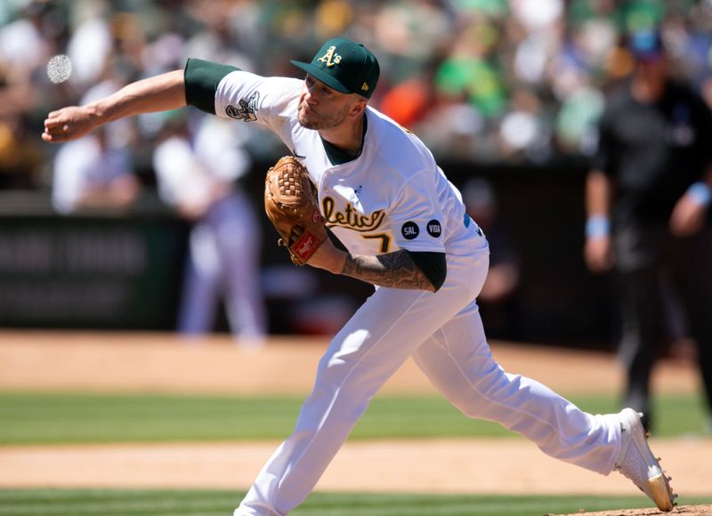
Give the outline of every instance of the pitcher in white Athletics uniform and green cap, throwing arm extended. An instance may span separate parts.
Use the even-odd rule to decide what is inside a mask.
[[[465,415],[501,423],[592,472],[618,470],[671,511],[672,489],[635,411],[587,414],[492,358],[475,301],[487,276],[487,238],[423,142],[368,106],[379,76],[374,54],[334,38],[311,62],[292,62],[303,79],[191,59],[184,70],[60,109],[44,123],[44,141],[66,141],[118,117],[189,104],[266,126],[294,157],[274,167],[265,188],[293,260],[376,286],[329,344],[295,431],[235,514],[278,516],[301,504],[369,400],[409,357]],[[301,199],[310,183],[316,194]],[[320,212],[313,222],[309,206]],[[303,239],[306,233],[312,237]]]

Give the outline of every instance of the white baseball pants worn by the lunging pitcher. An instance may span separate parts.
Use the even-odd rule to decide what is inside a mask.
[[[370,399],[413,356],[465,415],[501,423],[549,456],[608,474],[620,447],[614,415],[590,415],[492,358],[475,296],[487,274],[484,238],[448,256],[437,293],[378,288],[329,344],[294,433],[271,456],[235,516],[281,516],[301,504]],[[514,467],[514,466],[513,466]]]

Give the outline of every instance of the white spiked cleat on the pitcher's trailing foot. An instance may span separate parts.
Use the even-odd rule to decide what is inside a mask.
[[[669,512],[676,505],[677,495],[670,487],[671,478],[665,476],[659,459],[652,455],[648,447],[648,434],[643,429],[641,416],[632,408],[624,408],[619,413],[620,437],[623,440],[615,467],[655,502],[660,511]]]

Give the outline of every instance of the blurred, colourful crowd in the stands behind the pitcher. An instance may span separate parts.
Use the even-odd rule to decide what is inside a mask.
[[[372,104],[440,157],[538,163],[586,154],[608,85],[632,62],[626,37],[659,26],[677,73],[712,102],[709,0],[3,0],[0,2],[0,189],[51,185],[57,149],[47,112],[90,88],[181,68],[187,57],[298,77],[329,36],[350,36],[381,61]],[[69,80],[47,63],[66,54]],[[166,116],[115,134],[137,170]],[[251,129],[251,128],[250,128]],[[271,134],[235,129],[255,157],[283,153]],[[150,174],[149,174],[150,175]]]

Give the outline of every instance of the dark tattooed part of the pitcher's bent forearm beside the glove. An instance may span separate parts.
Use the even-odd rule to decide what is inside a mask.
[[[377,256],[348,254],[341,273],[378,286],[435,291],[430,279],[402,249]]]

